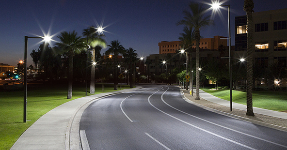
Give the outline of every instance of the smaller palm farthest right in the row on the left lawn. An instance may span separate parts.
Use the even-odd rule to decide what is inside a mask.
[[[133,48],[129,47],[129,49],[126,49],[126,52],[123,54],[124,58],[125,58],[125,62],[129,65],[129,68],[131,69],[131,72],[133,72],[133,75],[135,75],[135,62],[137,60],[137,56],[138,54],[136,53],[136,50],[134,50]],[[128,73],[129,75],[129,87],[133,88],[134,85],[134,77],[131,77],[131,72]]]

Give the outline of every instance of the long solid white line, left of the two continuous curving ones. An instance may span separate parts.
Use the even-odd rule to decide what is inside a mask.
[[[169,88],[168,88],[168,89],[169,89]],[[168,89],[167,89],[167,90],[168,90]],[[167,90],[165,90],[165,91],[162,93],[162,95],[163,95]],[[159,91],[159,90],[158,90],[158,91]],[[158,91],[156,91],[155,93],[157,93]],[[153,93],[153,94],[155,94],[155,93]],[[153,95],[153,94],[152,94],[152,95]],[[228,139],[228,138],[226,138],[226,137],[223,137],[223,136],[221,136],[221,135],[217,135],[217,134],[215,134],[215,133],[212,133],[212,132],[210,132],[210,131],[207,131],[207,130],[205,130],[205,129],[202,129],[202,128],[200,128],[200,127],[198,127],[198,126],[195,126],[195,125],[193,125],[193,124],[191,124],[191,123],[189,123],[189,122],[186,122],[186,121],[184,121],[184,120],[180,120],[180,119],[176,118],[175,116],[172,116],[172,115],[170,115],[170,114],[168,114],[168,113],[166,113],[166,112],[160,110],[158,107],[156,107],[156,106],[154,106],[154,105],[151,104],[151,102],[150,102],[150,97],[151,97],[152,95],[150,95],[150,96],[148,97],[148,99],[147,99],[147,100],[148,100],[148,103],[149,103],[151,106],[153,106],[154,108],[156,108],[157,110],[159,110],[160,112],[162,112],[162,113],[168,115],[169,117],[172,117],[172,118],[174,118],[175,120],[178,120],[178,121],[180,121],[180,122],[183,122],[183,123],[185,123],[185,124],[187,124],[187,125],[190,125],[190,126],[192,126],[192,127],[194,127],[194,128],[197,128],[197,129],[199,129],[199,130],[201,130],[201,131],[204,131],[204,132],[206,132],[206,133],[208,133],[208,134],[210,134],[210,135],[214,135],[214,136],[220,137],[220,138],[222,138],[222,139],[224,139],[224,140],[227,140],[227,141],[229,141],[229,142],[232,142],[232,143],[234,143],[234,144],[240,145],[240,146],[245,147],[245,148],[250,149],[250,150],[256,150],[256,149],[251,148],[251,147],[249,147],[249,146],[247,146],[247,145],[238,143],[238,142],[236,142],[236,141],[233,141],[233,140]]]

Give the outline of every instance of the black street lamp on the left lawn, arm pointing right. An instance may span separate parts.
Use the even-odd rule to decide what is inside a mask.
[[[45,42],[51,40],[48,36],[25,36],[25,48],[24,48],[24,112],[23,112],[23,122],[27,121],[27,49],[28,49],[28,39],[43,39]]]

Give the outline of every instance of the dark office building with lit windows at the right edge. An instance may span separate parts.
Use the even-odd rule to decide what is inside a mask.
[[[262,77],[257,79],[257,85],[273,87],[275,75],[272,67],[287,67],[287,9],[271,10],[253,13],[253,44],[255,64],[273,73],[275,79]],[[247,30],[246,16],[235,17],[235,52],[234,58],[246,58]],[[274,80],[274,81],[273,81]],[[280,79],[281,85],[286,86],[286,79]]]

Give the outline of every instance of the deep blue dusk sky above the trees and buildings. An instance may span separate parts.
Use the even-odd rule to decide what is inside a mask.
[[[182,11],[188,9],[190,1],[199,0],[1,0],[0,62],[16,65],[23,60],[24,36],[42,36],[42,30],[57,35],[76,30],[82,35],[83,29],[96,26],[96,22],[108,26],[107,44],[119,40],[126,49],[134,48],[140,57],[158,54],[159,42],[178,40],[183,26],[176,26],[176,22],[183,19]],[[235,16],[246,15],[243,3],[244,0],[224,2],[231,8],[231,45],[234,45]],[[287,0],[254,0],[254,3],[255,12],[287,8]],[[201,30],[201,36],[228,36],[227,11],[221,12],[223,17],[215,15],[215,25]],[[58,41],[56,36],[53,39]],[[28,40],[28,66],[32,64],[30,53],[38,49],[40,41]],[[102,49],[102,53],[106,50]]]

